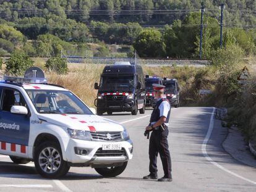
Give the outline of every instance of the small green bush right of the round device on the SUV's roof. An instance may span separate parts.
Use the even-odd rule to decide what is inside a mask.
[[[45,68],[58,74],[67,73],[67,59],[62,57],[51,57],[46,61]]]

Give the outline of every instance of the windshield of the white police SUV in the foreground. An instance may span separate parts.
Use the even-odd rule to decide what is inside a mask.
[[[27,93],[40,114],[93,115],[90,109],[70,91],[27,90]]]

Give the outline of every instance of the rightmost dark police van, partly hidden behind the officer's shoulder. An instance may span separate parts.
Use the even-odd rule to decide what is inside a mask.
[[[163,78],[164,94],[172,106],[179,107],[179,84],[175,78]]]

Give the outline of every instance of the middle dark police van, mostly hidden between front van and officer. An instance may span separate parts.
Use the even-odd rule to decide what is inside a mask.
[[[155,93],[152,86],[152,84],[154,83],[163,85],[160,77],[149,77],[148,75],[146,75],[146,107],[155,107],[156,105]]]

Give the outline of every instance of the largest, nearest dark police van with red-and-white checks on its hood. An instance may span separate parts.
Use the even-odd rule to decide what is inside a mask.
[[[101,74],[95,106],[97,114],[128,111],[132,115],[145,113],[145,81],[140,65],[116,62],[106,65]]]

